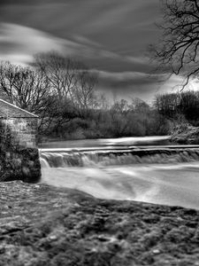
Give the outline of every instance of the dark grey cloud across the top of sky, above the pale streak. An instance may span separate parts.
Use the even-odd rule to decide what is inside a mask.
[[[4,6],[1,20],[67,39],[82,35],[125,55],[143,52],[157,36],[158,0],[26,0],[24,4],[17,0],[13,4]]]

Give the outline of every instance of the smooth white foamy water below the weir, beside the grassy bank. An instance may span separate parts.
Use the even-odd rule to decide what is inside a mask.
[[[42,182],[96,198],[137,200],[199,209],[198,165],[42,168]]]

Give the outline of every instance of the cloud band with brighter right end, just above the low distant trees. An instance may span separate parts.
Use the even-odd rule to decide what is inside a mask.
[[[94,72],[99,76],[98,90],[110,100],[138,97],[152,103],[157,94],[179,91],[185,82],[184,77],[171,74]],[[191,80],[185,90],[197,88],[198,81]]]

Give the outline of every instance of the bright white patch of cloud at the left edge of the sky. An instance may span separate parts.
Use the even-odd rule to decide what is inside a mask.
[[[0,59],[27,64],[34,53],[64,51],[64,43],[42,31],[16,24],[0,24]]]

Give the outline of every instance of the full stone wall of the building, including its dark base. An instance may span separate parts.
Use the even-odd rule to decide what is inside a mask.
[[[0,121],[0,182],[38,182],[41,164],[36,145],[36,119]]]

